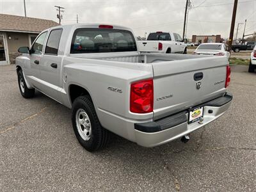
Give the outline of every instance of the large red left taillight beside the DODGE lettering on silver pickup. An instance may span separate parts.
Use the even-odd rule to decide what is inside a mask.
[[[132,113],[150,113],[153,111],[153,79],[137,81],[131,84],[130,111]]]

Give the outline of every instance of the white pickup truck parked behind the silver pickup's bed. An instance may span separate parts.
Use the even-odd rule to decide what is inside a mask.
[[[187,53],[187,45],[177,33],[150,33],[147,40],[138,41],[138,45],[141,52]]]

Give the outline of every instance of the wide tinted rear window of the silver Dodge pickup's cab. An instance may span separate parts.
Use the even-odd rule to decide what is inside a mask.
[[[137,51],[131,31],[81,28],[72,38],[70,53]]]

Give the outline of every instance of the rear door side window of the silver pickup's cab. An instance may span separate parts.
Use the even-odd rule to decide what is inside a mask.
[[[45,54],[58,54],[61,33],[62,29],[56,29],[51,31],[47,40]]]

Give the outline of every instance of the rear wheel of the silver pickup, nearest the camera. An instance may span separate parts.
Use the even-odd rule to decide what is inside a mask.
[[[77,97],[74,100],[72,125],[77,140],[86,150],[93,152],[107,145],[109,132],[100,125],[89,96]]]

